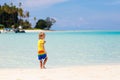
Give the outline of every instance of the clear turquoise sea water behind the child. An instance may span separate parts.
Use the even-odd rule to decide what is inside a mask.
[[[0,34],[0,68],[36,68],[38,33]],[[47,67],[120,64],[120,31],[46,32]]]

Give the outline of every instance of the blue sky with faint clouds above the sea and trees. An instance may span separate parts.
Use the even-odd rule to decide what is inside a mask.
[[[120,30],[120,0],[0,0],[11,2],[30,12],[33,27],[51,17],[56,20],[52,30]]]

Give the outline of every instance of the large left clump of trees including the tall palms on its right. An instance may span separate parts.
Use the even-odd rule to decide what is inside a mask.
[[[24,10],[21,8],[22,3],[19,3],[19,7],[16,7],[11,3],[10,5],[4,4],[0,5],[0,24],[5,25],[6,28],[11,28],[14,26],[25,26],[27,28],[31,27],[31,24],[23,18],[29,17],[29,12],[24,13]]]

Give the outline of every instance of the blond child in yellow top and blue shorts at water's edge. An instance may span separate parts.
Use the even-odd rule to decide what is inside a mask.
[[[44,32],[40,32],[39,33],[39,40],[38,40],[38,59],[40,60],[40,68],[41,69],[45,69],[45,64],[47,62],[47,54],[45,51],[45,33]]]

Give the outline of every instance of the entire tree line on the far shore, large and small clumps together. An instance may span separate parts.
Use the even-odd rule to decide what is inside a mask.
[[[22,9],[21,2],[18,7],[13,5],[13,3],[10,3],[9,5],[4,3],[4,5],[0,5],[0,24],[4,25],[4,28],[18,28],[19,26],[22,26],[23,29],[30,29],[32,27],[29,22],[29,16],[29,11],[24,11]],[[36,17],[34,17],[34,20],[36,20]],[[39,19],[34,28],[49,30],[55,22],[56,20],[50,17]]]

